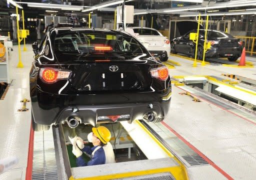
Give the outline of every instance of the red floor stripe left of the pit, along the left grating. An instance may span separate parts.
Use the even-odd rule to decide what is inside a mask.
[[[26,166],[26,180],[32,179],[33,147],[34,147],[34,131],[32,129],[32,124],[31,124],[29,144],[28,144],[27,166]]]

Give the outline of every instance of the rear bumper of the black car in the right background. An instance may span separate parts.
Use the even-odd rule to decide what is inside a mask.
[[[233,47],[233,48],[211,47],[205,53],[206,57],[229,57],[229,56],[240,57],[240,55],[241,55],[240,47]]]

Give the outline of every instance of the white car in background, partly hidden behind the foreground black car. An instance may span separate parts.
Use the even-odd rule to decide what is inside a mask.
[[[126,27],[126,32],[135,36],[145,48],[160,61],[167,61],[170,54],[170,41],[159,31],[148,27]]]

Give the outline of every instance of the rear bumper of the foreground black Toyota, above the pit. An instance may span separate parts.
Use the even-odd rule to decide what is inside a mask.
[[[137,98],[136,102],[137,96],[130,94],[129,96],[126,95],[125,98],[133,96],[135,98],[134,102],[130,102],[130,99],[130,101],[124,101],[123,103],[116,103],[115,101],[115,104],[90,105],[93,103],[86,97],[87,95],[52,95],[37,90],[37,98],[31,98],[31,105],[35,123],[45,125],[64,123],[70,116],[77,117],[80,123],[91,124],[92,126],[105,122],[132,122],[136,119],[142,119],[147,113],[153,113],[156,118],[155,121],[163,120],[169,109],[171,98],[168,95],[171,94],[171,87],[162,93],[136,94],[142,96],[144,100]],[[106,95],[105,98],[110,100],[111,97],[118,98],[118,95],[109,97]],[[152,106],[149,104],[152,104]],[[78,111],[73,112],[73,108],[77,108]],[[116,115],[123,116],[116,120],[107,117]]]

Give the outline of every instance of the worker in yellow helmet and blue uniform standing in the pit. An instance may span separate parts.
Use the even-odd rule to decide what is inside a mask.
[[[111,138],[110,131],[104,127],[92,128],[92,132],[88,134],[87,139],[92,143],[93,147],[84,146],[83,140],[77,137],[72,153],[76,157],[76,166],[93,166],[115,163],[112,145],[109,143]],[[82,159],[82,152],[90,155],[91,160],[88,163]]]

